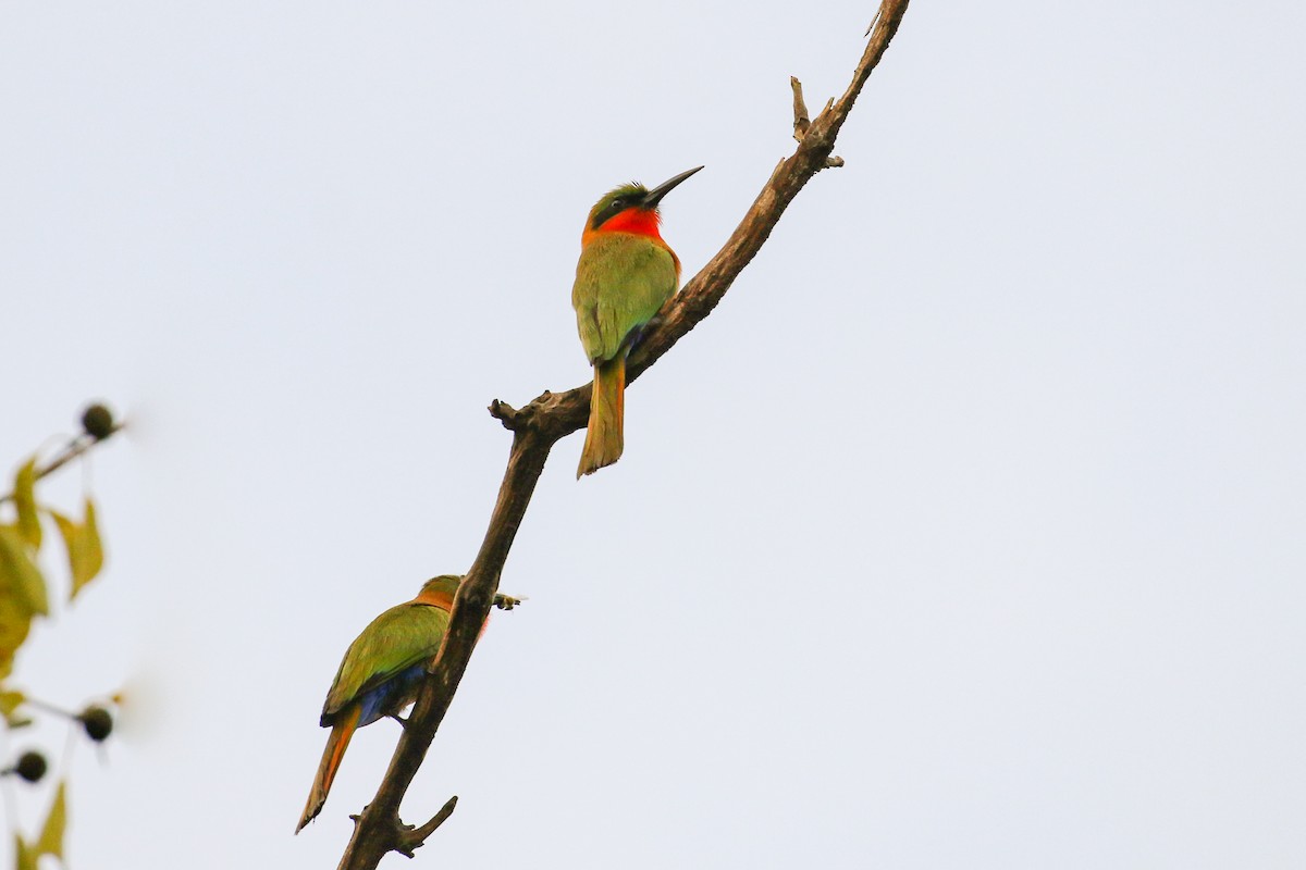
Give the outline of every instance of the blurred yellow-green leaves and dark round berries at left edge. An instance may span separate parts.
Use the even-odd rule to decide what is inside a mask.
[[[40,556],[51,548],[44,535],[42,517],[48,517],[59,531],[68,566],[68,603],[94,580],[104,566],[104,548],[95,519],[95,502],[82,497],[81,518],[59,511],[38,498],[37,484],[51,472],[74,459],[81,459],[97,443],[110,438],[120,424],[103,404],[93,404],[82,413],[82,432],[63,446],[46,463],[39,455],[29,457],[14,473],[13,490],[0,497],[0,717],[9,730],[33,723],[38,713],[55,713],[76,724],[89,740],[99,743],[114,730],[112,713],[98,703],[89,703],[78,713],[37,700],[12,685],[18,651],[27,640],[37,620],[51,617],[51,591],[42,569]],[[27,750],[0,775],[13,775],[26,783],[38,783],[47,771],[46,755]],[[14,865],[18,870],[37,870],[42,856],[64,861],[64,831],[68,826],[67,775],[55,788],[44,824],[35,840],[26,840],[14,831]],[[13,818],[13,814],[9,814]]]

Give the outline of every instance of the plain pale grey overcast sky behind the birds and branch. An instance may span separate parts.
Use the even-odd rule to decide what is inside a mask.
[[[323,698],[470,565],[486,404],[589,377],[586,210],[705,164],[663,206],[693,274],[872,14],[0,4],[0,460],[131,424],[108,570],[16,677],[127,686],[73,866],[336,865],[397,728],[294,837]],[[1303,31],[913,5],[622,462],[558,445],[404,807],[457,813],[384,866],[1306,865]]]

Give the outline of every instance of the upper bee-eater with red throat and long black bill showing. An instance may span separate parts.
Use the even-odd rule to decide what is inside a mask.
[[[622,185],[589,210],[572,286],[580,340],[594,367],[577,477],[622,457],[626,355],[680,286],[680,260],[658,233],[657,206],[671,188],[701,168],[682,172],[652,190],[643,184]]]

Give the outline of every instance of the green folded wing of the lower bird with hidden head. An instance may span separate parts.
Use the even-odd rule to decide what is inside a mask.
[[[409,601],[392,607],[349,644],[326,693],[323,716],[419,661],[435,657],[449,627],[449,612]]]

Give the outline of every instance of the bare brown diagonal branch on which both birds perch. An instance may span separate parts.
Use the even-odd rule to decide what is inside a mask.
[[[831,162],[835,137],[848,119],[857,95],[884,55],[906,12],[908,0],[883,0],[871,26],[870,40],[853,73],[848,90],[832,100],[807,125],[794,153],[780,162],[761,193],[721,250],[669,301],[627,363],[627,381],[633,381],[712,313],[734,279],[767,241],[785,209],[803,185]],[[804,112],[806,113],[806,112]],[[462,673],[471,657],[481,625],[499,588],[499,575],[508,558],[517,528],[530,503],[549,451],[563,437],[581,429],[589,416],[590,385],[567,393],[545,393],[517,410],[495,399],[490,413],[512,430],[508,468],[490,517],[481,552],[477,553],[449,620],[440,655],[422,685],[409,725],[400,737],[389,770],[376,797],[355,817],[354,836],[341,858],[340,870],[372,870],[387,852],[411,854],[427,826],[410,828],[400,820],[400,801],[417,775],[435,732],[449,708]],[[447,807],[452,811],[452,806]],[[441,819],[443,820],[443,819]],[[430,823],[428,823],[430,824]],[[434,827],[432,827],[434,830]],[[428,833],[430,831],[424,831]],[[424,835],[423,835],[424,836]]]

